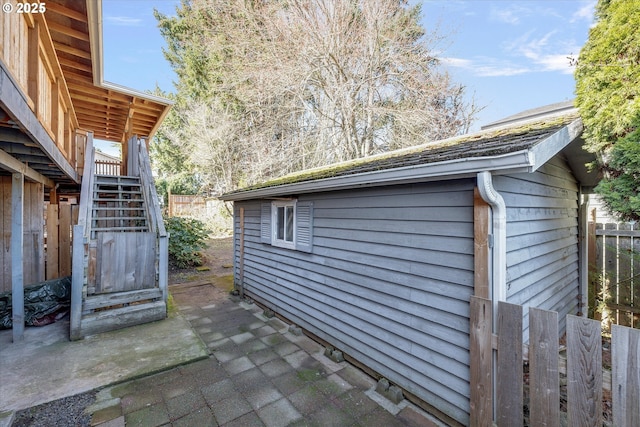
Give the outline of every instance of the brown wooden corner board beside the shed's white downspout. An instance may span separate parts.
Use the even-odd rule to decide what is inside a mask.
[[[474,295],[490,298],[489,294],[489,234],[490,211],[487,202],[482,200],[478,187],[473,190],[473,270]]]

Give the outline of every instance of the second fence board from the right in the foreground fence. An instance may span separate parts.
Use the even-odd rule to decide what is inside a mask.
[[[567,316],[567,412],[569,426],[602,426],[600,322]]]

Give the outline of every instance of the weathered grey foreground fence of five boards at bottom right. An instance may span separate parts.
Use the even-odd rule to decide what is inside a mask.
[[[608,386],[599,321],[567,316],[565,359],[560,355],[558,313],[530,308],[529,345],[525,346],[522,310],[522,306],[500,302],[494,335],[492,302],[471,297],[471,426],[525,424],[526,360],[529,425],[560,426],[561,397],[566,392],[566,412],[562,412],[567,425],[602,426],[603,387],[610,389],[613,403],[612,419],[607,421],[617,427],[640,425],[640,330],[613,325]],[[561,394],[563,371],[566,391],[563,388]]]

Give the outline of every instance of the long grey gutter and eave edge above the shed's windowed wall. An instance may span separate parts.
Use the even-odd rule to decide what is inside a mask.
[[[475,177],[476,174],[481,171],[491,171],[498,174],[531,172],[533,166],[533,157],[530,151],[521,150],[498,156],[462,158],[257,188],[255,190],[223,194],[219,199],[224,201],[242,201],[290,194],[349,190],[359,187],[471,178]]]

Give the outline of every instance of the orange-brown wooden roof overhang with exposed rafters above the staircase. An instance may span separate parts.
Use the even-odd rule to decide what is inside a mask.
[[[102,1],[48,0],[46,6],[78,127],[114,142],[153,136],[173,102],[104,81]],[[144,67],[136,72],[145,72]]]

